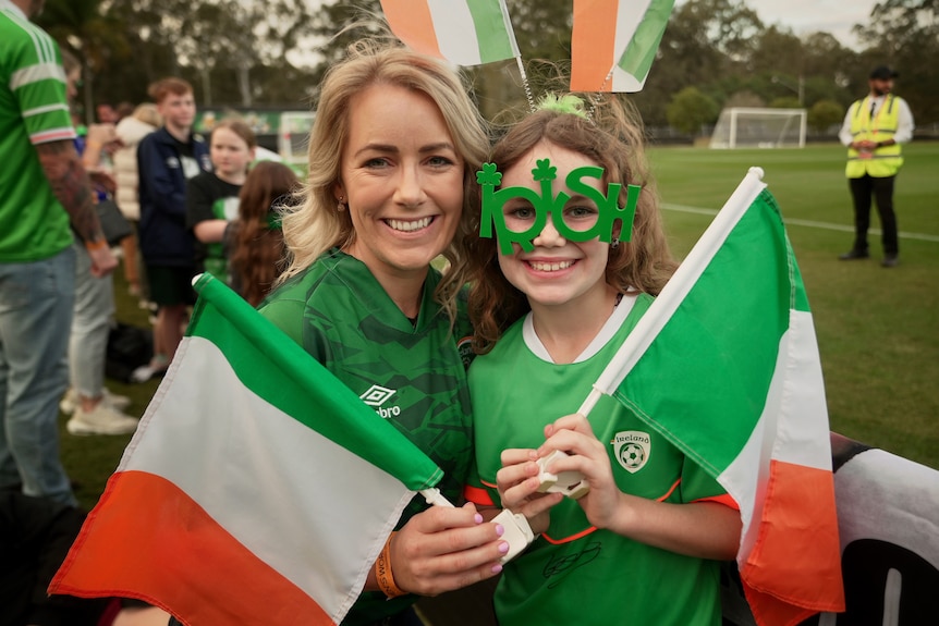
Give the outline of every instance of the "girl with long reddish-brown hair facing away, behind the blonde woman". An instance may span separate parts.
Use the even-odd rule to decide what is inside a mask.
[[[283,233],[273,205],[296,185],[293,170],[261,161],[241,189],[239,219],[225,233],[225,242],[232,289],[252,306],[260,304],[283,269]]]

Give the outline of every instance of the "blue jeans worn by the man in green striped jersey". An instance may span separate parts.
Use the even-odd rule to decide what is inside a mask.
[[[0,263],[0,488],[76,504],[59,458],[75,250]]]

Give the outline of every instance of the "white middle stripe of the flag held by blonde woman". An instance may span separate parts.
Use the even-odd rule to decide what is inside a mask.
[[[118,470],[175,483],[340,622],[413,492],[246,389],[205,339],[183,340],[163,382]],[[338,518],[336,502],[362,507]]]

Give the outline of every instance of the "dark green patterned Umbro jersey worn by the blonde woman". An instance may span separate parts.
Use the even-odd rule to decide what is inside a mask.
[[[272,292],[259,310],[375,408],[375,419],[390,420],[417,444],[443,470],[438,487],[455,504],[473,454],[471,327],[461,300],[451,329],[434,302],[439,281],[431,268],[412,322],[364,263],[333,249]],[[416,496],[399,527],[426,507]],[[415,600],[365,592],[343,624],[371,624]]]

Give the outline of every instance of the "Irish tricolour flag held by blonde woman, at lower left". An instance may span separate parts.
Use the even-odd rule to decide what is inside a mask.
[[[187,336],[49,588],[190,626],[338,624],[440,469],[208,274]]]

